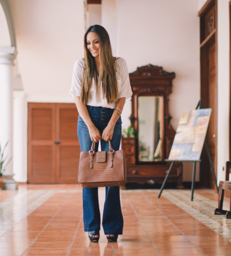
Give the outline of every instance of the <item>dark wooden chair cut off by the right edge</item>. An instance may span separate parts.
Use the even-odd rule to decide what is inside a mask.
[[[223,200],[225,190],[231,192],[231,181],[230,178],[230,170],[231,170],[231,161],[226,162],[226,180],[220,181],[219,183],[219,198],[218,198],[218,208],[215,210],[215,215],[226,215],[227,219],[231,219],[231,201],[230,201],[230,211],[223,210]]]

